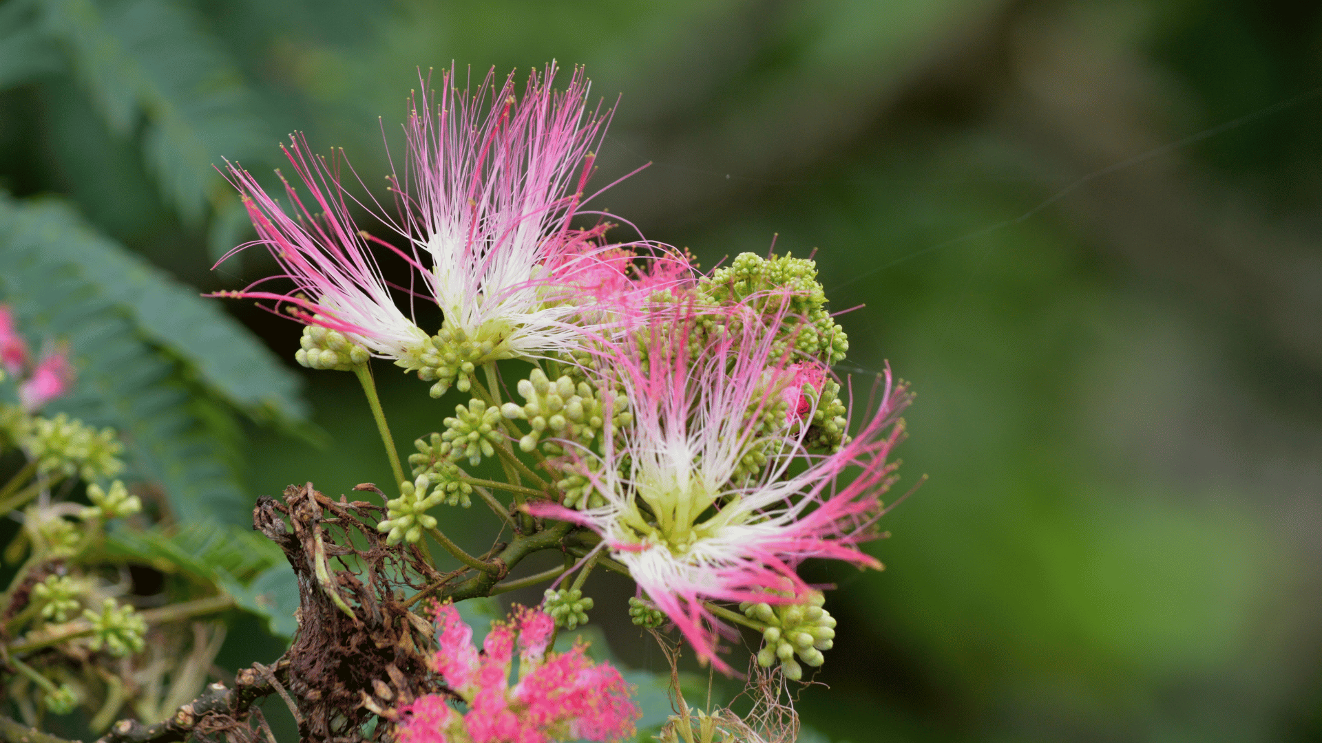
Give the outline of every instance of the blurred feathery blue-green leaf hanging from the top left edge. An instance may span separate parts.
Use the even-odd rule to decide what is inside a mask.
[[[147,119],[143,153],[165,198],[196,223],[229,186],[214,165],[274,136],[242,71],[202,19],[169,0],[41,0],[49,32],[114,131]]]

